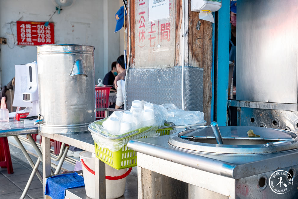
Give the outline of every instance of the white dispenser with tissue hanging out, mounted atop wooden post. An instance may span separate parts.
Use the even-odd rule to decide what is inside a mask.
[[[221,0],[191,0],[190,10],[200,12],[199,18],[214,23],[212,12],[221,8]]]

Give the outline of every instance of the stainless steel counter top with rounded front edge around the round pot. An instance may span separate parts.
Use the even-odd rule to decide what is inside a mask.
[[[259,156],[258,154],[241,155],[237,158],[235,158],[235,155],[197,155],[186,150],[182,151],[172,148],[168,144],[169,137],[170,135],[164,135],[155,138],[131,140],[128,142],[128,148],[138,153],[234,179],[298,164],[297,149],[278,154],[269,153],[265,156]],[[239,158],[243,158],[243,161],[239,162]]]

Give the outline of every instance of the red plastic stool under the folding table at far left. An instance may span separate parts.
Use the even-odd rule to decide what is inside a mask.
[[[1,168],[7,168],[8,174],[13,173],[7,138],[0,138],[0,166]]]

